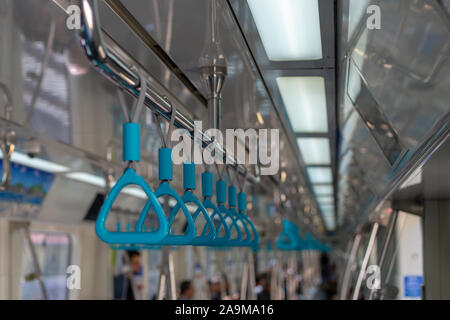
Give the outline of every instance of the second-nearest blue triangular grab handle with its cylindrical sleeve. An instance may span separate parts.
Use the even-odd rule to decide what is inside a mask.
[[[179,210],[184,214],[187,222],[187,228],[183,235],[169,234],[161,239],[160,245],[190,245],[196,234],[196,228],[194,220],[192,220],[189,210],[186,208],[183,200],[180,198],[178,193],[169,185],[168,180],[172,180],[172,149],[161,148],[159,149],[159,177],[162,179],[162,183],[155,191],[156,198],[161,197],[172,197],[176,200],[177,205],[170,211],[169,218],[167,219],[169,230],[172,228],[173,222]],[[163,161],[162,161],[163,160]],[[178,210],[175,210],[178,208]],[[138,222],[136,223],[136,230],[141,231],[144,225],[145,218],[147,217],[148,210],[144,208],[145,214],[139,216]]]

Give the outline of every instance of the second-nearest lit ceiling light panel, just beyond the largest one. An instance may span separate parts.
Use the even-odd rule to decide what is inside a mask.
[[[328,132],[323,77],[278,77],[277,85],[294,132]]]

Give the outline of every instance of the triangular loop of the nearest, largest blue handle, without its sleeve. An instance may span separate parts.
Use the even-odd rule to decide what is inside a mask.
[[[148,201],[141,212],[141,216],[145,214],[147,212],[146,210],[150,207],[155,209],[159,221],[159,227],[155,232],[113,232],[106,229],[106,219],[108,218],[111,207],[120,191],[128,185],[141,187],[147,195]],[[168,224],[164,211],[148,184],[142,177],[137,175],[132,168],[128,168],[106,197],[98,214],[97,221],[95,222],[95,231],[102,241],[109,244],[157,244],[166,236]]]

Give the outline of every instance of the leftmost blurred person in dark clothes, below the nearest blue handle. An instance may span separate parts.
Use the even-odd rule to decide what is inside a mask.
[[[114,277],[114,299],[142,299],[142,265],[139,251],[127,251],[121,274]]]

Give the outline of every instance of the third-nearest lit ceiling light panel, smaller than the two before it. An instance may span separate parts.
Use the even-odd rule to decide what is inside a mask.
[[[297,144],[306,165],[331,164],[328,138],[298,138]]]

